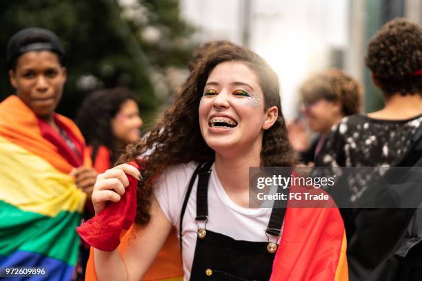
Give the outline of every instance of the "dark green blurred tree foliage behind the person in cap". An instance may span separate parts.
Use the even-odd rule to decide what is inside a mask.
[[[167,97],[160,77],[168,67],[185,67],[194,48],[189,39],[194,30],[181,19],[177,0],[1,1],[0,18],[3,58],[8,39],[22,28],[38,26],[59,35],[68,82],[57,111],[70,117],[94,88],[122,86],[137,93],[148,118]],[[1,101],[13,89],[6,59],[0,67]]]

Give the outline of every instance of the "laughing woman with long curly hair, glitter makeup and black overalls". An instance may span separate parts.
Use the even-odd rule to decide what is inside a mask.
[[[125,163],[139,156],[137,187],[139,171]],[[209,52],[120,163],[97,179],[97,215],[79,228],[94,228],[90,278],[141,280],[174,226],[184,280],[347,280],[338,209],[249,208],[250,167],[295,163],[277,74],[254,52],[234,45]],[[118,248],[119,240],[98,243],[103,230],[113,231],[101,224],[109,219],[103,212],[135,194],[136,216],[131,204],[122,208],[135,216],[132,231]]]

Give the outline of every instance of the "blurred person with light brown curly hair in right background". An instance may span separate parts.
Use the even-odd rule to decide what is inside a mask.
[[[344,116],[359,112],[362,87],[348,74],[332,69],[312,76],[303,83],[299,92],[301,114],[318,136],[310,141],[305,123],[294,120],[288,123],[289,139],[299,152],[299,160],[305,165],[313,165],[332,126]]]

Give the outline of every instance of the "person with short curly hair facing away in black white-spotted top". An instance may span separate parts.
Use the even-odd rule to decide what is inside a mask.
[[[422,122],[421,25],[407,19],[383,25],[370,40],[365,63],[385,105],[376,112],[343,118],[317,157],[317,166],[376,170],[421,160],[412,150]],[[347,187],[348,200],[363,202],[370,183],[368,175],[356,172]],[[422,280],[420,211],[343,209],[342,215],[350,280]]]

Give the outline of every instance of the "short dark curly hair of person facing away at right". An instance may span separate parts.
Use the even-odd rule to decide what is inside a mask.
[[[386,96],[422,94],[422,27],[394,19],[370,40],[365,63]]]

